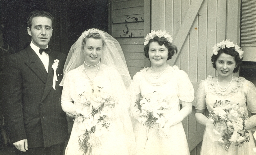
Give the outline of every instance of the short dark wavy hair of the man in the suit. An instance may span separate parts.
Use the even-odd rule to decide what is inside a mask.
[[[49,12],[47,11],[38,11],[38,10],[35,10],[35,11],[32,11],[29,13],[29,16],[28,16],[28,19],[27,19],[27,25],[29,27],[29,29],[31,29],[31,26],[32,26],[32,19],[34,17],[47,17],[49,18],[50,20],[52,20],[52,29],[54,27],[54,18],[52,16],[52,14],[50,14]]]

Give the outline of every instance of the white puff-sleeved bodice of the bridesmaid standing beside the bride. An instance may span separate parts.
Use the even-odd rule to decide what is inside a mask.
[[[175,111],[179,110],[179,100],[194,100],[194,89],[188,75],[177,66],[168,66],[158,79],[151,76],[150,68],[144,68],[134,75],[132,81],[136,94],[150,98],[154,92],[158,100],[168,103]]]

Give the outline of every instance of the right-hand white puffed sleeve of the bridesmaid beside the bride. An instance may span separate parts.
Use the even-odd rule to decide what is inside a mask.
[[[194,88],[188,75],[183,70],[178,70],[178,96],[179,99],[185,102],[194,100]]]

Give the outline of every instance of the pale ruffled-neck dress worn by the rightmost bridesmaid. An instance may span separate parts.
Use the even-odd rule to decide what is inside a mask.
[[[195,108],[202,110],[207,108],[209,111],[213,110],[213,105],[216,100],[229,100],[231,103],[236,103],[244,107],[245,114],[248,115],[247,110],[251,113],[256,113],[256,89],[253,83],[245,80],[243,77],[235,78],[227,91],[220,91],[217,82],[213,81],[212,76],[208,76],[205,80],[200,82],[196,93]],[[206,126],[207,129],[208,126]],[[253,148],[255,147],[253,135],[249,131],[250,140],[245,142],[241,147],[231,144],[228,151],[226,151],[218,141],[212,140],[210,135],[214,135],[211,130],[204,131],[203,143],[201,147],[201,155],[254,155]],[[210,133],[209,133],[210,132]],[[210,134],[210,135],[209,135]]]

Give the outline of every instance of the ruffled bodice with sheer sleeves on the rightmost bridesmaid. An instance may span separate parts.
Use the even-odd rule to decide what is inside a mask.
[[[208,76],[200,82],[196,95],[196,109],[212,110],[216,100],[229,100],[247,106],[251,113],[256,113],[256,89],[253,83],[243,77],[235,78],[227,91],[220,91],[217,82]],[[246,104],[247,103],[247,104]]]

